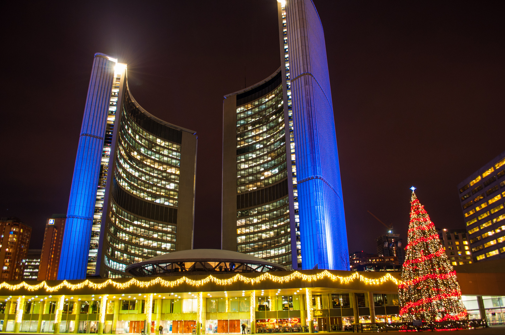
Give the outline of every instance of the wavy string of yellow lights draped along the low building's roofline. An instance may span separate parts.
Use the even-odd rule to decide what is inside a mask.
[[[245,284],[253,284],[253,285],[259,284],[259,283],[266,281],[266,280],[271,280],[275,283],[287,283],[287,282],[290,282],[290,281],[297,279],[297,278],[301,278],[301,280],[306,281],[306,282],[313,282],[313,281],[321,280],[325,277],[330,278],[332,281],[338,280],[338,281],[340,281],[340,283],[343,283],[343,284],[348,284],[348,283],[355,281],[357,279],[359,279],[361,282],[364,282],[365,284],[369,284],[369,285],[381,285],[387,281],[391,281],[395,285],[398,285],[398,283],[399,283],[398,280],[396,280],[396,278],[394,278],[390,273],[387,273],[386,275],[384,275],[380,278],[377,278],[377,279],[370,279],[370,278],[367,278],[367,277],[359,274],[357,271],[352,273],[349,276],[342,277],[339,275],[334,275],[334,274],[330,273],[330,271],[328,271],[328,270],[324,270],[323,272],[320,272],[317,274],[304,274],[304,273],[300,273],[299,271],[294,271],[293,273],[291,273],[289,275],[285,275],[285,276],[276,276],[276,275],[271,274],[270,272],[265,272],[255,278],[248,278],[248,277],[245,277],[245,276],[237,273],[236,275],[234,275],[233,277],[228,278],[228,279],[219,279],[211,274],[208,277],[198,280],[198,281],[189,279],[188,277],[184,276],[184,277],[181,277],[175,281],[166,281],[162,277],[156,277],[152,281],[149,281],[149,282],[142,282],[142,281],[139,281],[135,278],[132,278],[131,280],[129,280],[126,283],[117,283],[111,279],[105,281],[104,283],[92,283],[89,280],[85,280],[79,284],[70,284],[67,281],[63,281],[62,283],[58,284],[57,286],[48,286],[45,281],[42,283],[39,283],[37,285],[29,285],[26,282],[22,282],[22,283],[16,284],[16,285],[11,285],[6,282],[3,282],[3,283],[0,283],[0,289],[19,290],[21,288],[24,288],[28,291],[35,291],[35,290],[39,290],[39,289],[44,288],[48,292],[55,292],[55,291],[60,290],[61,288],[68,288],[70,290],[76,290],[76,289],[82,289],[86,286],[91,289],[99,290],[99,289],[103,289],[109,285],[112,285],[115,288],[125,289],[125,288],[128,288],[133,285],[135,285],[139,288],[147,288],[151,285],[157,285],[157,284],[164,286],[164,287],[172,287],[173,288],[173,287],[179,286],[181,284],[187,284],[187,285],[191,285],[191,286],[201,286],[201,285],[205,285],[208,283],[214,283],[217,285],[231,285],[231,284],[236,283],[238,281],[241,281]]]

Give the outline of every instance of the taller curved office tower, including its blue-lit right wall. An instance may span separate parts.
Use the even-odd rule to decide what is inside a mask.
[[[224,100],[222,248],[348,270],[323,27],[311,0],[278,13],[282,66]]]

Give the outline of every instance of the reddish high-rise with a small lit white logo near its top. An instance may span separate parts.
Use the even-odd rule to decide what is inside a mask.
[[[53,214],[46,221],[42,252],[39,255],[41,258],[38,271],[39,281],[58,279],[66,217],[65,214]]]

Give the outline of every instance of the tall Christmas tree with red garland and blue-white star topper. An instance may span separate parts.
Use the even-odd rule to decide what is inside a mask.
[[[424,206],[414,193],[405,262],[398,285],[400,316],[404,321],[427,322],[462,320],[467,310],[461,302],[461,290],[438,233]]]

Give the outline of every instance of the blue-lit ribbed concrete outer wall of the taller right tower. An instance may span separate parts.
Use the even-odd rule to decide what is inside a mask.
[[[324,32],[311,0],[286,4],[302,268],[348,270]]]

